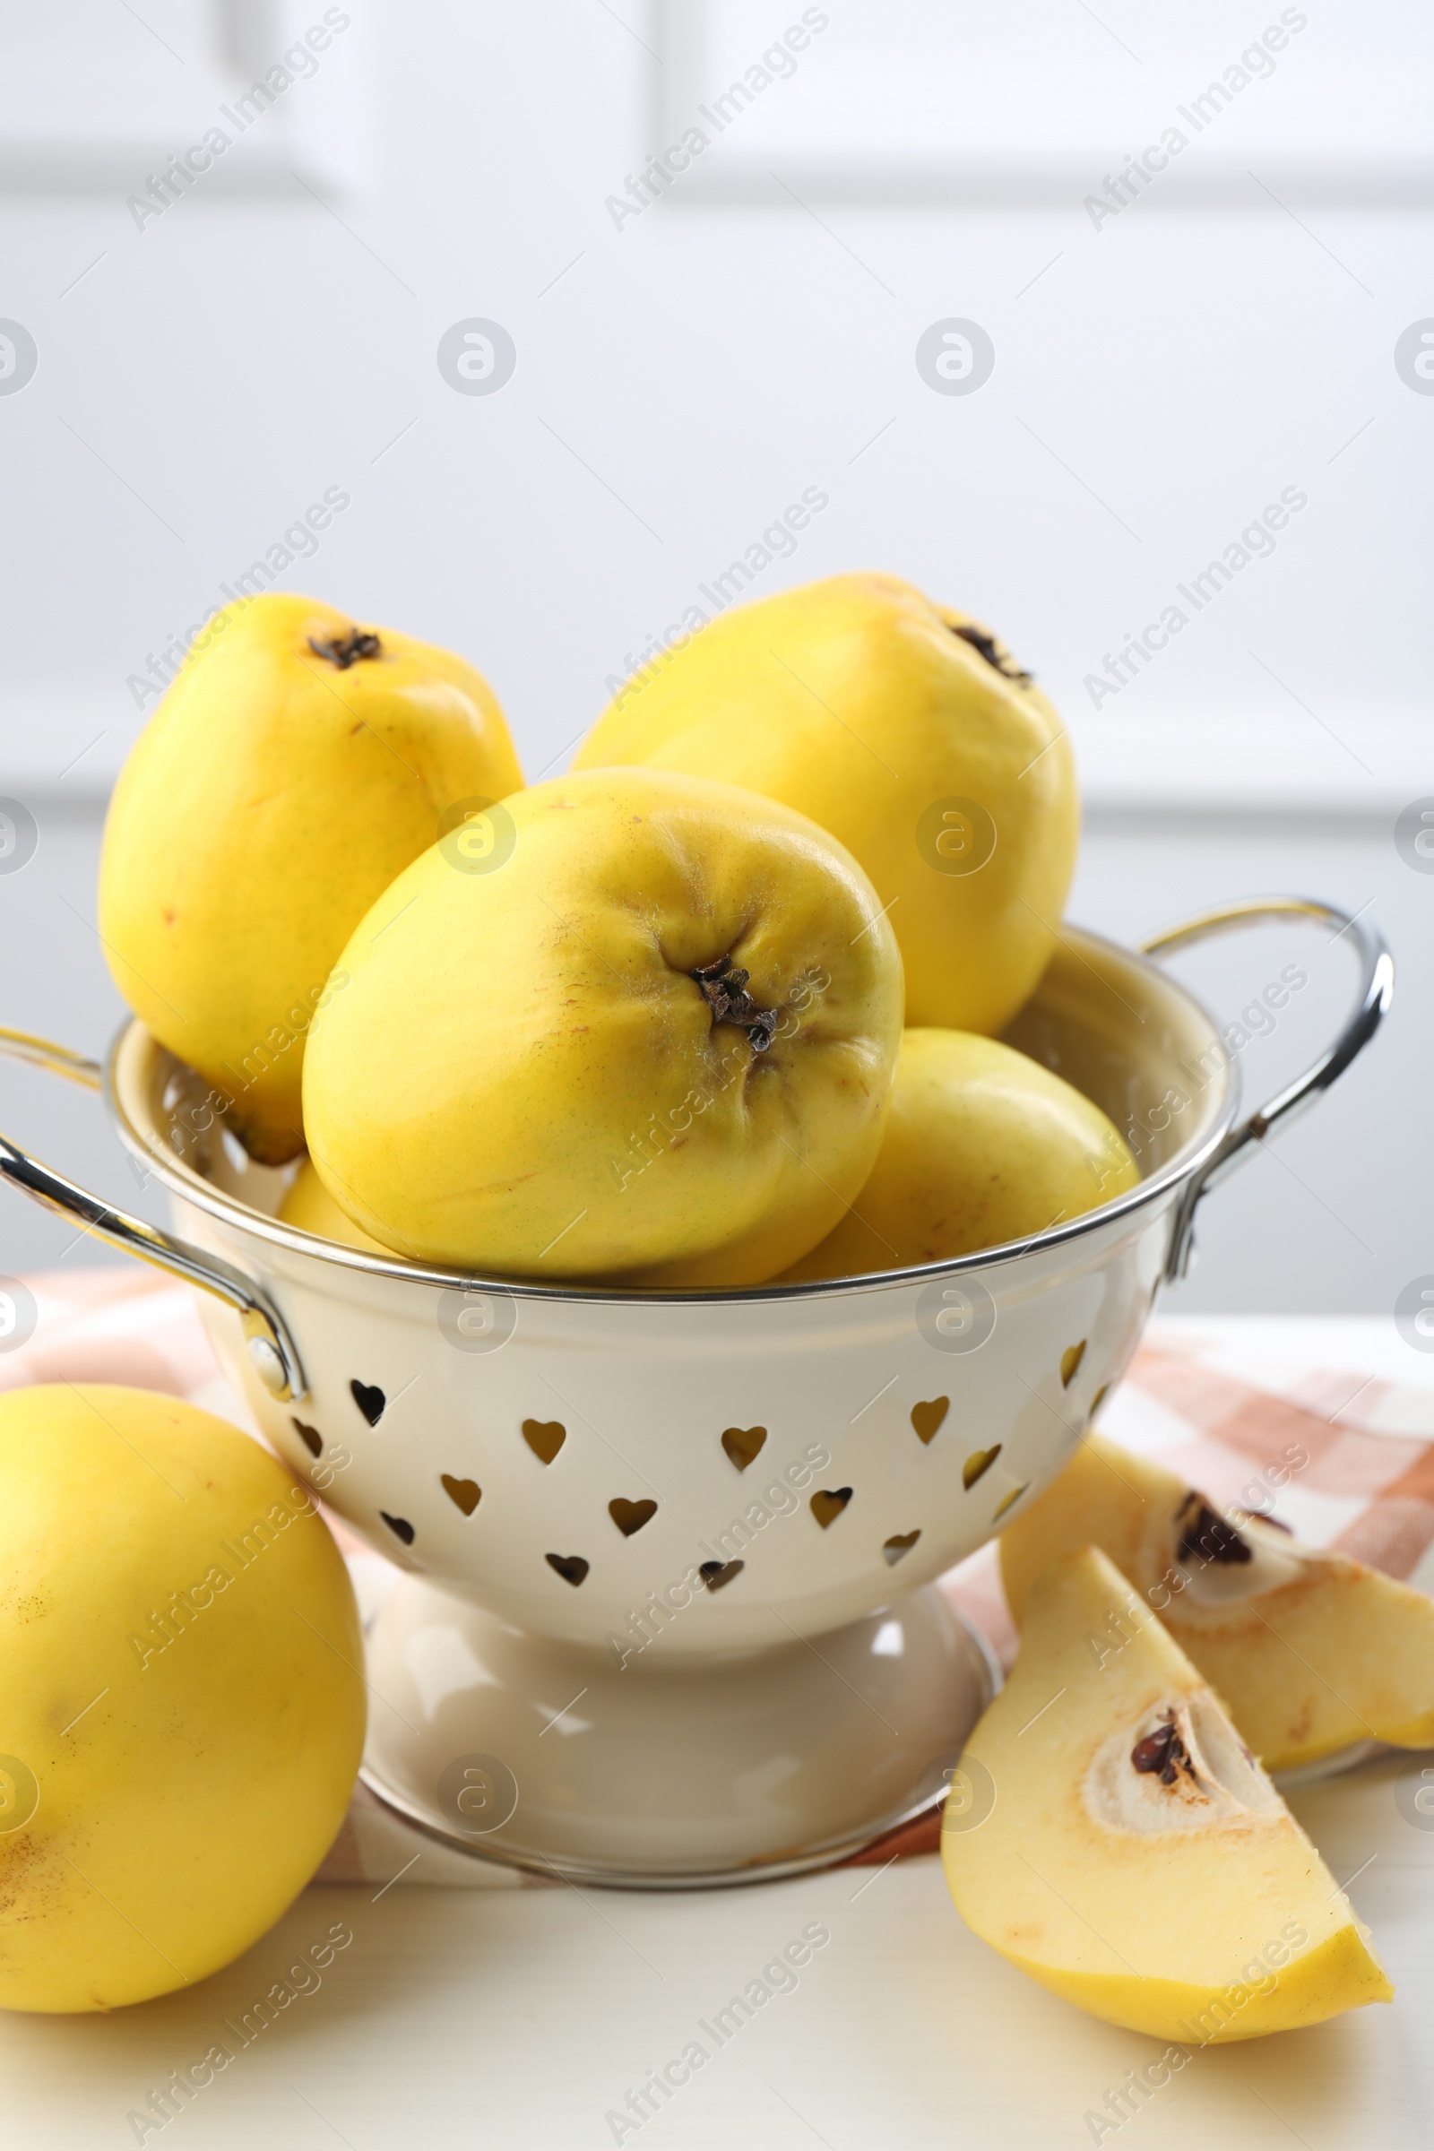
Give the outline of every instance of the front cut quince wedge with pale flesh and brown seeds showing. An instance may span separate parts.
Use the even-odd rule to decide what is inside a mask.
[[[985,1942],[1157,2039],[1253,2039],[1393,1994],[1219,1697],[1096,1547],[1032,1592],[942,1858]]]

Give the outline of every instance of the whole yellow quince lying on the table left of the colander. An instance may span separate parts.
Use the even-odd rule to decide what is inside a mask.
[[[256,1441],[144,1390],[0,1398],[0,2007],[118,2009],[258,1940],[344,1818],[361,1663]]]

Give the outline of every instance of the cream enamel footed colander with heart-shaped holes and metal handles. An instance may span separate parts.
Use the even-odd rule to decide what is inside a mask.
[[[1359,959],[1335,1043],[1262,1112],[1157,955],[1314,923]],[[1378,934],[1301,897],[1129,953],[1064,927],[1006,1039],[1127,1134],[1142,1183],[1023,1245],[722,1293],[471,1278],[314,1239],[142,1024],[105,1091],[174,1230],[0,1138],[0,1172],[200,1288],[299,1478],[404,1575],[370,1626],[385,1800],[475,1854],[626,1884],[789,1874],[940,1798],[989,1699],[931,1587],[1036,1495],[1124,1372],[1195,1207],[1374,1035]]]

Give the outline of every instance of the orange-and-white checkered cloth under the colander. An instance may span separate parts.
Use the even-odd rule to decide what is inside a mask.
[[[118,1381],[185,1396],[258,1433],[215,1364],[187,1286],[133,1267],[49,1271],[26,1284],[39,1321],[28,1344],[0,1355],[0,1390]],[[1273,1504],[1311,1544],[1339,1547],[1434,1590],[1434,1357],[1410,1351],[1389,1321],[1159,1319],[1107,1400],[1101,1430],[1159,1456],[1217,1504]],[[374,1605],[393,1570],[338,1519],[329,1523],[359,1598]],[[995,1547],[952,1568],[942,1590],[1008,1665],[1015,1628]],[[940,1813],[931,1811],[860,1858],[933,1852],[937,1835]],[[557,1886],[447,1850],[357,1785],[318,1880],[400,1878],[469,1889]]]

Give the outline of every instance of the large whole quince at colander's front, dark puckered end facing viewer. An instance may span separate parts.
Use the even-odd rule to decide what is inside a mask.
[[[598,770],[434,845],[342,955],[303,1119],[402,1254],[520,1276],[755,1284],[881,1142],[901,957],[813,822]]]

